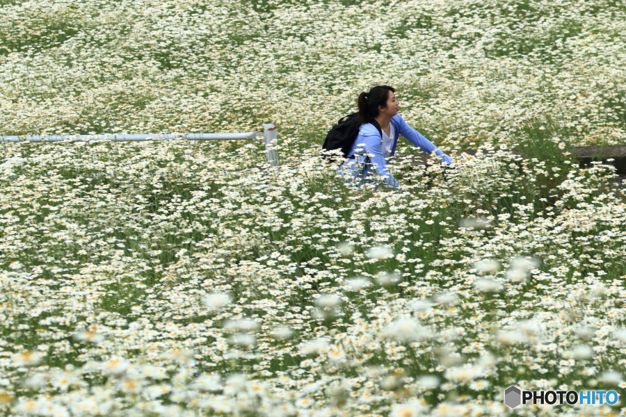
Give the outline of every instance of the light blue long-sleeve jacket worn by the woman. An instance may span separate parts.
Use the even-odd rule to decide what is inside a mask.
[[[428,154],[437,149],[435,154],[441,158],[442,162],[447,163],[447,165],[452,163],[452,158],[444,154],[430,140],[424,138],[418,131],[409,126],[401,115],[396,114],[392,117],[391,122],[394,124],[394,142],[390,156],[394,156],[396,153],[398,136],[402,135],[413,145]],[[360,126],[359,134],[350,152],[348,152],[348,158],[352,155],[355,156],[354,159],[348,159],[348,161],[339,165],[339,172],[342,174],[350,172],[354,181],[358,181],[360,178],[360,181],[357,183],[358,186],[362,186],[367,181],[367,177],[371,177],[373,174],[378,175],[378,177],[383,178],[383,181],[388,186],[399,190],[400,184],[389,172],[387,161],[383,157],[383,138],[374,124],[365,123]]]

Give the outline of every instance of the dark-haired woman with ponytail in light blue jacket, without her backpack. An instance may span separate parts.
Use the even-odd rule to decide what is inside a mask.
[[[362,186],[368,177],[378,175],[387,185],[399,190],[400,184],[387,167],[387,158],[396,153],[399,135],[428,154],[436,150],[435,154],[440,156],[444,163],[448,165],[452,163],[452,158],[437,149],[430,140],[415,131],[398,114],[400,104],[394,92],[396,90],[389,85],[376,85],[369,92],[362,92],[359,95],[357,118],[359,134],[348,152],[348,161],[339,165],[342,173],[352,174],[355,180],[360,178],[358,186]],[[382,136],[375,126],[376,123],[380,126]]]

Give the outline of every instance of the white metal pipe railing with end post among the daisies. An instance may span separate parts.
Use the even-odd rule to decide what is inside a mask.
[[[262,133],[262,134],[259,134]],[[1,136],[0,142],[78,142],[90,140],[112,140],[113,142],[141,142],[154,139],[186,139],[186,140],[258,140],[265,142],[267,161],[271,167],[278,167],[278,152],[275,139],[278,137],[276,126],[269,123],[263,126],[263,131],[247,133],[188,133],[180,134],[147,134],[147,135],[26,135],[26,136]]]

